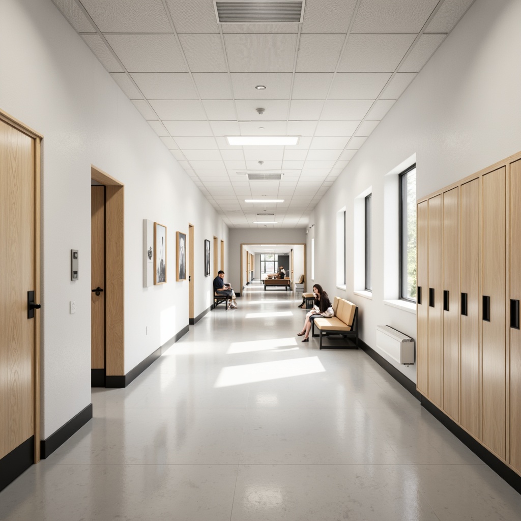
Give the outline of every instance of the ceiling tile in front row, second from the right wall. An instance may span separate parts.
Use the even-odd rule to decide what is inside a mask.
[[[354,33],[418,33],[438,0],[364,0],[356,13]]]

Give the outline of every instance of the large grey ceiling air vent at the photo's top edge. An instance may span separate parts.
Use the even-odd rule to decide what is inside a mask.
[[[218,23],[302,23],[304,1],[215,0],[214,5]]]

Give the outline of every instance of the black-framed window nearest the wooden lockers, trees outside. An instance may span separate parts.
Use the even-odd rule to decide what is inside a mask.
[[[416,165],[400,174],[400,299],[416,302]]]

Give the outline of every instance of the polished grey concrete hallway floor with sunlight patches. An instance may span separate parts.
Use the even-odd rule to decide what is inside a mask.
[[[0,492],[0,519],[519,520],[521,495],[363,351],[251,284]]]

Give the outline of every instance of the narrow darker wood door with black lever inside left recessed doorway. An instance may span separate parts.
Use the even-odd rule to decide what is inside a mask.
[[[91,369],[105,368],[105,187],[91,187]]]

